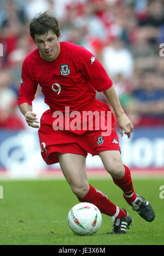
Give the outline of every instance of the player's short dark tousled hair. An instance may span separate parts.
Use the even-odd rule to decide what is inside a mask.
[[[34,40],[35,34],[48,34],[51,31],[56,34],[57,37],[60,36],[60,27],[58,25],[58,20],[51,16],[48,11],[44,13],[37,14],[30,22],[30,34]]]

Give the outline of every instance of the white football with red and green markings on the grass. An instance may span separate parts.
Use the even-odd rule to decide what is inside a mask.
[[[69,228],[79,236],[96,233],[101,223],[101,212],[92,203],[78,203],[68,213]]]

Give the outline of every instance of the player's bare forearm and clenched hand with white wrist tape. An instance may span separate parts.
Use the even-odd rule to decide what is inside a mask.
[[[19,106],[21,113],[24,115],[28,126],[39,128],[39,121],[36,114],[32,112],[32,106],[28,103],[22,103]]]

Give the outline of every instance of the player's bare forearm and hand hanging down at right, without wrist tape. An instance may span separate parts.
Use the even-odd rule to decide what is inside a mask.
[[[130,119],[125,114],[124,109],[122,109],[121,103],[119,101],[118,95],[116,94],[114,86],[104,91],[104,95],[106,95],[108,101],[114,109],[121,136],[123,136],[124,130],[125,134],[128,136],[128,138],[130,138],[131,132],[134,130],[134,127]]]

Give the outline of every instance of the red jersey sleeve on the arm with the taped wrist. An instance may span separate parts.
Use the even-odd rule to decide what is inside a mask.
[[[22,78],[19,91],[18,104],[27,102],[32,106],[32,101],[37,91],[38,83],[34,80],[33,65],[28,64],[28,60],[25,59],[22,65]],[[31,67],[30,67],[31,66]]]

